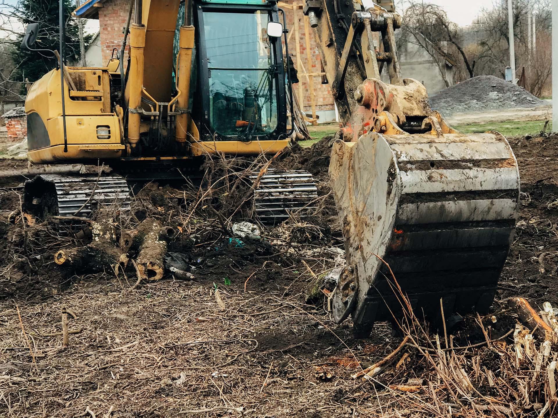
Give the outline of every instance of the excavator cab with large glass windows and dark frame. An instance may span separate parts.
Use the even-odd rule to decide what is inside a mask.
[[[204,2],[196,12],[202,138],[285,139],[288,84],[277,9]]]

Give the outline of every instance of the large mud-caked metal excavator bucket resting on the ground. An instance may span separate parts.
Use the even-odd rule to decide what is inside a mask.
[[[334,317],[355,336],[377,320],[439,317],[492,304],[511,245],[519,172],[507,140],[484,134],[336,140],[329,166],[348,267]],[[403,298],[405,297],[405,298]]]

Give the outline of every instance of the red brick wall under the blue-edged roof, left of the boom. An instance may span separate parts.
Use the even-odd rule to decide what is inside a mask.
[[[99,7],[99,29],[103,65],[108,64],[108,60],[110,60],[112,56],[113,48],[117,48],[120,52],[122,40],[124,39],[124,27],[126,26],[126,20],[128,18],[129,4],[129,0],[110,0],[104,2],[103,7]],[[129,46],[129,35],[127,41]],[[128,62],[128,46],[126,47],[126,55],[124,56],[125,63]]]

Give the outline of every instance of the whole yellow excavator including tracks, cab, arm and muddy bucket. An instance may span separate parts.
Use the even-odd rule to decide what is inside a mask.
[[[25,185],[26,211],[85,214],[94,192],[98,203],[125,205],[122,176],[165,178],[208,153],[287,145],[291,80],[274,1],[186,0],[177,42],[178,0],[132,1],[127,66],[124,54],[120,71],[60,59],[26,101],[32,163],[102,161],[120,176],[37,176]],[[352,316],[362,338],[403,310],[486,312],[517,219],[519,173],[506,139],[457,132],[431,110],[424,85],[402,77],[392,1],[305,0],[304,13],[343,122],[329,167],[347,258],[331,289],[335,320]],[[28,27],[23,47],[37,30]],[[260,213],[277,220],[285,206],[307,205],[316,191],[306,176],[271,173]]]

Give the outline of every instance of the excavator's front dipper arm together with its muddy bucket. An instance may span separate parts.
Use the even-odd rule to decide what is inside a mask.
[[[393,1],[305,0],[304,13],[343,122],[329,166],[347,258],[331,280],[335,320],[352,316],[366,337],[411,309],[487,312],[519,205],[507,140],[459,133],[402,77]]]

